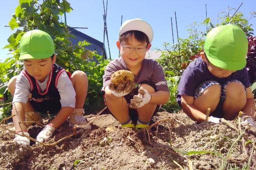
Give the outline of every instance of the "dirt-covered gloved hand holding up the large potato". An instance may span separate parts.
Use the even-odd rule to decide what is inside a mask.
[[[129,80],[126,83],[120,82],[116,87],[112,82],[108,84],[108,88],[117,97],[122,97],[126,94],[129,94],[133,90],[134,86],[135,82],[133,82],[132,80]]]

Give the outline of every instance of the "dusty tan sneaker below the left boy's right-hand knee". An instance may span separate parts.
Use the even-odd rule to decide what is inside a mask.
[[[78,108],[81,109],[81,108]],[[69,116],[69,126],[74,127],[75,124],[77,125],[86,125],[89,122],[86,120],[86,118],[83,117],[84,111],[83,112],[75,112],[78,111],[76,108],[73,113],[70,114]],[[82,108],[83,109],[83,108]],[[82,127],[83,129],[91,129],[91,125],[87,125],[86,127]]]

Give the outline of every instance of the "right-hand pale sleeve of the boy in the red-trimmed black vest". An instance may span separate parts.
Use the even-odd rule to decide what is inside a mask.
[[[73,107],[75,108],[76,103],[76,92],[73,87],[71,80],[68,77],[66,71],[60,74],[57,82],[57,89],[60,93],[61,107]]]

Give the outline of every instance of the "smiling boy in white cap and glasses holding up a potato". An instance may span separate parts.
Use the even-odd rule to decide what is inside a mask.
[[[126,20],[116,41],[121,57],[105,67],[102,87],[105,103],[122,127],[149,126],[160,104],[168,102],[169,88],[163,68],[157,61],[145,58],[152,40],[153,30],[147,22],[139,18]],[[125,92],[109,89],[111,74],[122,69],[134,73],[136,87]],[[133,107],[129,108],[128,103]]]

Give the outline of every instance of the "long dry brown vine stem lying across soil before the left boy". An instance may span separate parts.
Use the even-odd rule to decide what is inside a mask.
[[[3,118],[2,121],[0,122],[0,128],[3,128],[3,129],[5,129],[5,130],[8,130],[8,131],[10,131],[10,132],[12,132],[12,133],[14,133],[14,134],[18,134],[18,135],[27,137],[27,138],[29,138],[29,139],[35,141],[35,142],[38,142],[38,143],[43,144],[43,145],[46,145],[46,146],[54,146],[54,145],[56,145],[57,143],[61,142],[62,140],[66,139],[66,138],[68,138],[68,137],[71,137],[71,136],[73,136],[73,135],[76,135],[75,129],[76,129],[77,127],[86,127],[86,126],[88,126],[88,125],[89,125],[90,123],[92,123],[92,122],[95,120],[95,118],[96,118],[99,114],[101,114],[105,109],[106,109],[106,107],[103,108],[100,112],[98,112],[98,113],[96,114],[96,116],[94,117],[94,119],[91,120],[90,122],[88,122],[86,125],[79,125],[79,126],[78,126],[78,125],[75,125],[72,134],[67,135],[67,136],[65,136],[65,137],[62,137],[61,139],[59,139],[59,140],[57,140],[56,142],[53,142],[53,143],[43,143],[43,142],[40,142],[40,141],[38,141],[38,140],[36,140],[36,139],[30,137],[30,136],[24,135],[24,133],[18,134],[18,133],[16,133],[15,131],[12,131],[12,130],[6,128],[6,127],[1,126],[1,124],[2,124],[4,121],[6,121],[6,120],[8,120],[8,119],[10,119],[10,118],[12,118],[13,116],[16,116],[16,115],[12,115],[12,116],[10,116],[10,117]],[[20,123],[22,123],[22,122],[19,122],[19,125],[20,125]],[[36,122],[36,123],[37,123],[37,122]]]

